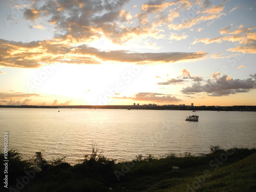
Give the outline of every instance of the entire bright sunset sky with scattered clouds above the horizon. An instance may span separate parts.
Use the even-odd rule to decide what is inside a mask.
[[[254,0],[0,2],[2,105],[256,105]]]

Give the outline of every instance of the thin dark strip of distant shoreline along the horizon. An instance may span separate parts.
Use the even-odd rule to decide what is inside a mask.
[[[187,111],[256,111],[256,105],[191,106],[191,105],[0,105],[0,108],[42,109],[126,109],[126,110],[187,110]]]

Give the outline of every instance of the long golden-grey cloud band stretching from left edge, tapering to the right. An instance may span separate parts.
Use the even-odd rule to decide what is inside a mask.
[[[100,51],[87,45],[71,46],[53,40],[15,42],[0,39],[0,66],[38,68],[49,63],[99,64],[104,60],[119,62],[176,62],[203,58],[205,52],[134,53],[125,50]]]

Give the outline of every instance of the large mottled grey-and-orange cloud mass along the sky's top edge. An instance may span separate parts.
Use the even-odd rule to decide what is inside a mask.
[[[34,22],[47,20],[54,27],[55,38],[63,41],[88,42],[106,37],[115,44],[124,44],[134,38],[144,42],[152,38],[162,38],[163,26],[181,30],[224,15],[224,5],[211,6],[209,1],[200,4],[187,0],[148,1],[135,15],[125,10],[124,5],[127,3],[129,0],[33,1],[24,9],[24,18]],[[195,12],[195,9],[199,11]],[[195,17],[183,22],[183,10],[194,12]],[[184,39],[186,35],[170,38]]]

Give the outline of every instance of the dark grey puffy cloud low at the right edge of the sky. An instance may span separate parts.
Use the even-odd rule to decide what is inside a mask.
[[[236,93],[245,93],[256,88],[256,74],[250,75],[254,79],[233,79],[227,75],[217,77],[218,75],[219,72],[212,73],[212,77],[214,79],[208,79],[204,85],[201,82],[193,83],[190,87],[183,88],[181,92],[188,95],[204,92],[209,96],[223,96]]]

